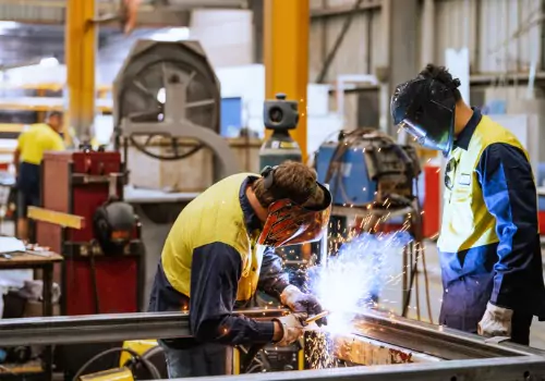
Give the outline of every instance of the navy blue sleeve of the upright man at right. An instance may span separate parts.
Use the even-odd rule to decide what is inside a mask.
[[[538,234],[532,168],[520,149],[497,143],[483,151],[476,171],[499,238],[491,302],[512,308],[517,298],[524,297],[514,291],[532,266]]]

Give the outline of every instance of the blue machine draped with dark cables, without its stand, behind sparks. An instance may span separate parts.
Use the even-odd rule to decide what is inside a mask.
[[[337,142],[323,144],[316,170],[319,181],[330,185],[335,205],[353,207],[386,207],[386,200],[407,206],[421,172],[412,146],[400,146],[374,128],[341,131]]]

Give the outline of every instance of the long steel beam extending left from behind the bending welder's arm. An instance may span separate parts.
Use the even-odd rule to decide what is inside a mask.
[[[286,310],[249,309],[237,314],[256,319],[269,319],[286,314]],[[108,343],[191,336],[189,315],[184,312],[0,319],[2,346]]]

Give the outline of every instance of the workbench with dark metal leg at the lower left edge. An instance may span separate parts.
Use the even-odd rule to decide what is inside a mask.
[[[53,315],[53,304],[52,304],[52,288],[53,288],[53,265],[59,263],[63,260],[62,256],[51,251],[45,251],[39,255],[32,253],[11,253],[8,256],[0,256],[0,270],[41,270],[43,273],[43,315],[45,317],[50,317]],[[51,347],[46,347],[44,354],[44,362],[46,377],[44,379],[51,379],[51,362],[52,362],[52,351]],[[2,373],[7,374],[29,374],[36,373],[38,370],[35,362],[28,368],[28,364],[20,366],[5,366]]]

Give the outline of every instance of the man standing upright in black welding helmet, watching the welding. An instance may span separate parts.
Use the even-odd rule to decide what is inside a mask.
[[[448,157],[438,249],[439,323],[529,345],[545,318],[537,195],[526,150],[505,127],[470,108],[443,66],[399,85],[393,122]]]

